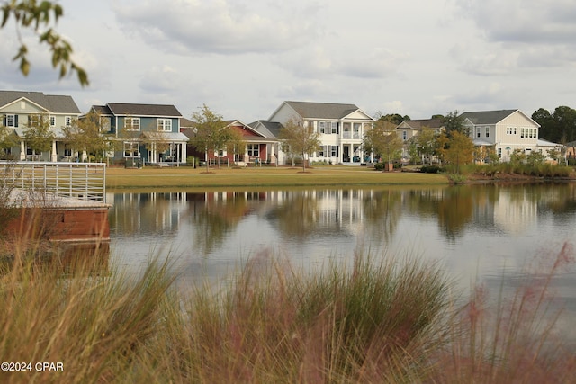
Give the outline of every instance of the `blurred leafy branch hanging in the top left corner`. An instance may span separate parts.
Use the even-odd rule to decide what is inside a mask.
[[[52,55],[52,67],[58,68],[60,78],[67,73],[76,72],[78,82],[85,86],[89,84],[88,75],[85,70],[76,64],[71,56],[73,53],[70,43],[63,39],[52,24],[56,24],[58,19],[64,14],[64,9],[57,3],[51,1],[37,0],[5,0],[0,1],[2,10],[2,23],[0,29],[4,28],[6,22],[14,17],[17,35],[20,40],[20,48],[13,60],[20,60],[20,71],[24,76],[30,73],[31,63],[28,60],[28,47],[23,42],[21,30],[31,30],[37,36],[40,44],[47,45]]]

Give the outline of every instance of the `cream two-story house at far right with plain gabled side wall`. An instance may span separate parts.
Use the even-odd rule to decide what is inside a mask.
[[[548,151],[559,144],[538,138],[540,124],[519,110],[464,112],[460,115],[477,147],[492,147],[501,161],[509,161],[517,149],[530,154],[540,151],[548,157]]]

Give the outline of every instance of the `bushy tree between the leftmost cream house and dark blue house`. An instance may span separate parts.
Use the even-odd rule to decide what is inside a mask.
[[[90,162],[90,155],[103,159],[106,153],[113,149],[112,137],[107,135],[107,127],[103,126],[98,112],[88,112],[84,118],[72,121],[69,127],[62,130],[68,139],[68,144],[76,151],[85,151]]]

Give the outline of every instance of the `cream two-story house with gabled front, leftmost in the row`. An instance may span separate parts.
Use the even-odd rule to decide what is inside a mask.
[[[3,149],[3,156],[14,160],[60,161],[69,160],[72,149],[67,146],[63,128],[73,124],[80,110],[71,96],[43,94],[41,92],[0,91],[0,121],[12,130],[14,147]],[[26,141],[34,129],[45,129],[43,135],[51,141],[47,151],[40,152]],[[40,132],[40,129],[39,129]]]

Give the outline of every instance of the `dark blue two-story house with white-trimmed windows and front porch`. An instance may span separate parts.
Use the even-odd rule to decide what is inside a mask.
[[[188,138],[180,132],[182,114],[174,105],[106,103],[91,111],[100,115],[103,133],[119,144],[113,162],[185,163]]]

